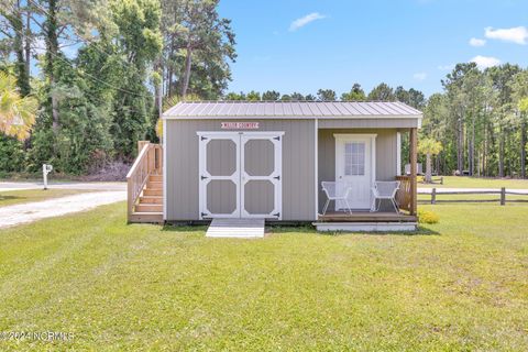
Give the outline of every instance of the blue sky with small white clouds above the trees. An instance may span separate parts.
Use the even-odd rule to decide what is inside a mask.
[[[229,91],[385,81],[430,96],[457,63],[528,66],[528,0],[221,0],[219,12],[237,34]]]

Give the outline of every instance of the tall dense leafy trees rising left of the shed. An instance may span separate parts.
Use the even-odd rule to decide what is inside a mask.
[[[0,94],[10,105],[0,110],[0,170],[130,163],[138,140],[157,140],[161,100],[220,98],[237,55],[218,2],[2,1]],[[13,132],[21,101],[34,108],[28,133]]]

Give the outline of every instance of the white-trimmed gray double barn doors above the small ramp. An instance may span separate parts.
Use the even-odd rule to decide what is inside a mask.
[[[282,219],[283,132],[198,132],[200,219]]]

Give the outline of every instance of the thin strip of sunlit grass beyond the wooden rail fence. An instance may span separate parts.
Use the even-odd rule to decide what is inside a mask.
[[[433,179],[438,179],[437,176]],[[503,179],[503,178],[484,178],[468,176],[443,176],[443,185],[440,184],[422,184],[418,183],[418,187],[437,187],[437,188],[526,188],[528,189],[528,179]]]

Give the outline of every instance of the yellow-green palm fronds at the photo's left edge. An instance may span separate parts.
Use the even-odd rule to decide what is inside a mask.
[[[33,97],[21,97],[13,76],[0,73],[0,131],[23,141],[35,123],[38,103]]]

